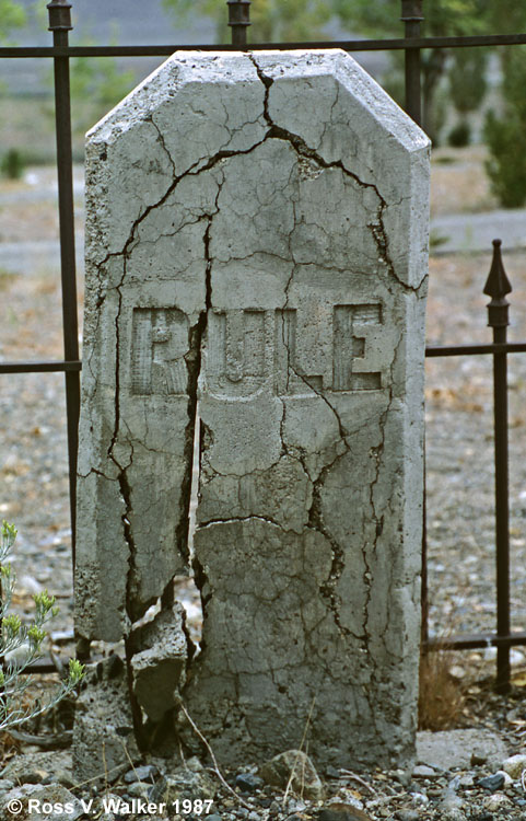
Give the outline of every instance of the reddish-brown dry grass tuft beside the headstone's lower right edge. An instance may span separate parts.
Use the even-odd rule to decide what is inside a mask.
[[[420,730],[448,730],[458,725],[466,697],[451,674],[451,652],[441,648],[422,654],[418,719]]]

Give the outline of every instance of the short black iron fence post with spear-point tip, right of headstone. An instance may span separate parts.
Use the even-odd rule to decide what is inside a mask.
[[[512,286],[501,256],[501,240],[493,240],[493,259],[483,292],[488,303],[488,325],[493,343],[507,342],[509,307],[506,293]],[[495,535],[496,535],[496,635],[510,635],[510,505],[507,474],[507,355],[493,354],[493,414],[495,431]],[[510,691],[510,645],[496,648],[496,685],[499,693]]]

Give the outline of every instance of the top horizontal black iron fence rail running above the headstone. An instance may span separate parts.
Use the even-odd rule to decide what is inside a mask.
[[[488,34],[477,37],[397,37],[394,39],[306,41],[303,43],[222,43],[160,46],[3,46],[1,57],[163,57],[174,51],[260,51],[306,48],[341,48],[344,51],[404,51],[421,48],[474,48],[478,46],[526,45],[526,34]]]

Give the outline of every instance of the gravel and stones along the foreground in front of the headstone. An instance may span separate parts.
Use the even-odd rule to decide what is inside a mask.
[[[478,728],[420,733],[420,763],[361,774],[331,766],[318,773],[293,750],[259,767],[246,762],[224,771],[195,758],[147,755],[117,777],[83,785],[73,782],[68,751],[12,752],[1,774],[0,812],[28,821],[46,803],[69,803],[66,814],[46,819],[524,821],[526,755],[518,744],[507,748]]]

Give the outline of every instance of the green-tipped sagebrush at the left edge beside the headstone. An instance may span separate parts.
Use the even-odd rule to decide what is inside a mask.
[[[40,648],[47,635],[44,625],[57,615],[58,609],[55,606],[55,597],[44,590],[33,597],[35,616],[32,624],[28,626],[22,624],[20,616],[8,614],[16,577],[5,559],[14,544],[16,532],[14,524],[9,524],[5,519],[2,521],[0,530],[0,730],[7,730],[45,713],[71,693],[84,674],[84,666],[77,659],[70,659],[67,680],[59,685],[48,702],[45,704],[35,702],[27,705],[24,698],[33,680],[23,674],[23,671],[42,657]],[[13,660],[9,658],[10,655]]]

